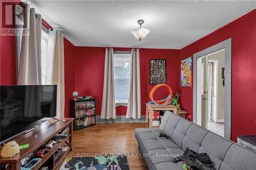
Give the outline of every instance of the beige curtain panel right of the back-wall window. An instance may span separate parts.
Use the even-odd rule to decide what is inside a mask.
[[[139,49],[132,49],[131,69],[130,69],[130,87],[127,103],[126,118],[140,118],[141,116],[140,100],[140,54]]]

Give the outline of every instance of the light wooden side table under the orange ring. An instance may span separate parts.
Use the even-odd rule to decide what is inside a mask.
[[[175,114],[177,114],[177,107],[174,105],[151,105],[151,104],[146,104],[146,116],[145,116],[145,122],[148,123],[148,117],[147,117],[147,110],[149,110],[148,117],[149,117],[149,128],[152,128],[152,123],[153,123],[153,113],[155,110],[170,110],[173,111]]]

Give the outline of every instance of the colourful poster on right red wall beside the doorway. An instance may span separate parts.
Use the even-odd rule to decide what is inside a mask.
[[[192,58],[181,60],[181,86],[192,86]]]

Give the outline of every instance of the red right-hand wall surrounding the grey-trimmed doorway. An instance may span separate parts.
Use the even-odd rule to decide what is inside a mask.
[[[231,140],[256,134],[256,10],[184,47],[180,58],[232,38]],[[181,103],[193,117],[193,87],[180,87]]]

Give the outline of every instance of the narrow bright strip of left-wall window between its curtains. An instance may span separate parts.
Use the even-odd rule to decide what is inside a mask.
[[[49,35],[44,30],[41,33],[41,74],[42,84],[45,84],[46,77],[46,62],[47,62],[47,48],[48,48]]]

